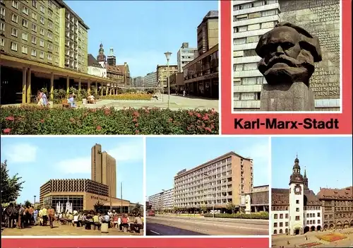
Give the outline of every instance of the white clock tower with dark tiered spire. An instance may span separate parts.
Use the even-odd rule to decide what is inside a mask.
[[[299,235],[304,231],[304,180],[300,174],[298,157],[294,160],[289,178],[289,234]]]

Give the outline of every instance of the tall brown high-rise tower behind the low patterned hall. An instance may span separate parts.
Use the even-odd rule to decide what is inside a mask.
[[[116,197],[116,160],[102,146],[95,144],[91,149],[91,179],[109,186],[109,196]]]

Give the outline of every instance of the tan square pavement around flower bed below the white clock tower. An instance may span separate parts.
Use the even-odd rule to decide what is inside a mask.
[[[346,239],[337,240],[335,242],[325,242],[319,240],[316,235],[325,235],[330,232],[342,233],[347,236]],[[347,234],[347,232],[351,232]],[[308,240],[305,240],[305,236]],[[289,244],[287,244],[289,241]],[[313,242],[318,242],[320,244],[314,246],[316,247],[353,247],[353,228],[347,228],[335,231],[324,231],[324,232],[306,232],[304,235],[272,235],[272,247],[305,247],[303,244],[309,244]]]

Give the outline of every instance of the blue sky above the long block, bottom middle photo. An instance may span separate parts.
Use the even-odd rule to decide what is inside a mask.
[[[174,176],[234,151],[253,158],[254,186],[269,184],[270,148],[267,137],[146,138],[146,193],[172,189]]]

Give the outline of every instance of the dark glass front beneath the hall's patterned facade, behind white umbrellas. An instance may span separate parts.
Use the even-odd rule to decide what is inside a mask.
[[[43,199],[43,206],[56,209],[56,204],[60,203],[65,212],[67,202],[72,203],[72,210],[83,211],[83,196],[47,196]]]

